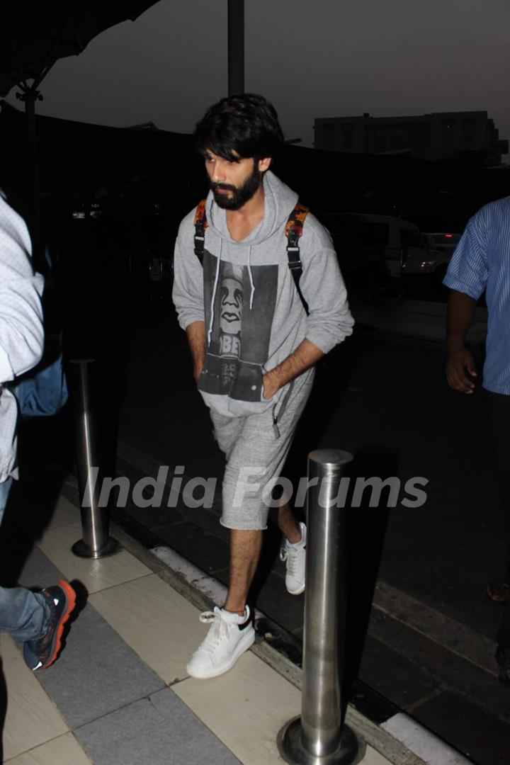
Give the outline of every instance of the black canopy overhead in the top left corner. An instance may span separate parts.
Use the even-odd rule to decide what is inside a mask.
[[[102,31],[135,21],[158,0],[2,0],[0,96],[34,80],[59,59],[80,54]]]

